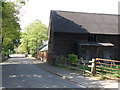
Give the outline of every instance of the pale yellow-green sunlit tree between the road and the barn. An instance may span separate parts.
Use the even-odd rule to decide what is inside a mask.
[[[42,45],[42,40],[47,40],[47,27],[40,20],[30,23],[21,35],[21,48],[26,53],[35,55],[37,48]]]

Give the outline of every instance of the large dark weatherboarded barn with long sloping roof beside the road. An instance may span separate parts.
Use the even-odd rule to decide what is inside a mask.
[[[118,15],[51,11],[49,56],[74,53],[86,60],[120,60],[119,37]]]

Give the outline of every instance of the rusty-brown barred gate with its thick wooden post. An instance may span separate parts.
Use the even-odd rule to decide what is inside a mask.
[[[97,73],[109,73],[109,74],[119,74],[120,75],[120,61],[117,60],[108,60],[96,58],[92,59],[91,73],[92,75],[96,75]]]

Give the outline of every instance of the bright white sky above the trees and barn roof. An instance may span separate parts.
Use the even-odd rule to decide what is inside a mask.
[[[50,10],[118,14],[120,0],[29,0],[21,9],[21,28],[35,19],[48,26]]]

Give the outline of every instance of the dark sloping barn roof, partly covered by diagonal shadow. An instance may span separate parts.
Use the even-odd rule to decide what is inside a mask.
[[[120,34],[118,15],[51,11],[53,32]]]

